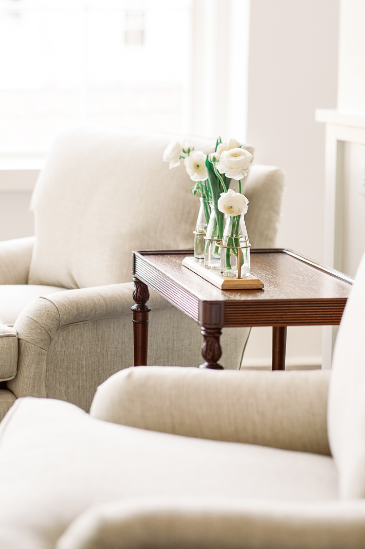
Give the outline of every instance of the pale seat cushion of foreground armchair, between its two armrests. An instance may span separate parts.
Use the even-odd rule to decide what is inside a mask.
[[[156,433],[32,397],[18,399],[0,424],[0,470],[7,549],[53,548],[81,512],[117,499],[336,498],[327,456]]]

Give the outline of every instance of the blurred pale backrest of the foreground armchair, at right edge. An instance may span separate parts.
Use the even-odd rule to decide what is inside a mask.
[[[365,255],[336,339],[328,432],[343,498],[365,497]]]

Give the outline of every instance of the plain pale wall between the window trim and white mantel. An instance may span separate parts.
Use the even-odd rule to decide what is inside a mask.
[[[324,127],[315,109],[335,107],[337,0],[251,0],[248,141],[255,161],[287,171],[278,247],[323,257]],[[287,362],[321,360],[319,327],[288,329]],[[263,352],[265,351],[265,352]],[[245,364],[269,363],[271,330],[252,330]]]

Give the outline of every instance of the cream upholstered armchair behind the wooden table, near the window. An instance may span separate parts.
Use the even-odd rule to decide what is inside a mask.
[[[86,128],[55,143],[32,197],[35,238],[0,243],[0,419],[20,396],[88,410],[97,386],[133,365],[131,251],[193,245],[199,200],[184,166],[162,162],[170,139]],[[251,243],[270,247],[283,172],[255,166],[245,185]],[[198,366],[195,322],[156,293],[149,305],[149,364]],[[223,334],[225,367],[239,367],[248,334]]]

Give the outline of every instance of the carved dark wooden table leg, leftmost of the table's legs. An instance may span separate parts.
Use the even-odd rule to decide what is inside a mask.
[[[148,286],[139,278],[133,277],[133,299],[136,305],[131,307],[133,311],[133,342],[134,342],[134,366],[147,366],[148,350],[148,313],[150,307]]]

